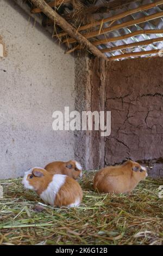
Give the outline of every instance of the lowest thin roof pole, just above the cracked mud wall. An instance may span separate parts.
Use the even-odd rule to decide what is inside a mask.
[[[124,53],[120,55],[116,55],[113,57],[109,57],[108,60],[116,60],[116,59],[122,59],[122,58],[128,58],[128,57],[138,57],[138,56],[144,56],[149,54],[155,54],[159,53],[160,50],[151,50],[151,51],[144,51],[144,52],[130,52],[130,53]]]

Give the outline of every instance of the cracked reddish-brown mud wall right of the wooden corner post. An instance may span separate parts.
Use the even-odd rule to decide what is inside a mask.
[[[105,164],[125,157],[151,166],[163,176],[163,58],[143,58],[106,65],[106,110],[111,135],[106,137]]]

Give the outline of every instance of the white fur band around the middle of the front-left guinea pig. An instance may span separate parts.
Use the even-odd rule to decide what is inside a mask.
[[[41,199],[50,205],[54,205],[55,197],[62,185],[64,185],[66,175],[55,174],[45,191],[40,194]]]

